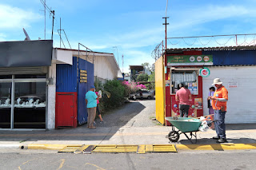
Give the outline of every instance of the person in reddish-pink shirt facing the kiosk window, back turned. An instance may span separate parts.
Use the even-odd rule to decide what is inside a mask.
[[[179,109],[180,117],[188,117],[192,95],[190,93],[190,90],[187,89],[187,86],[185,86],[183,83],[181,84],[181,89],[178,89],[175,95],[175,100],[179,104],[178,109]]]

